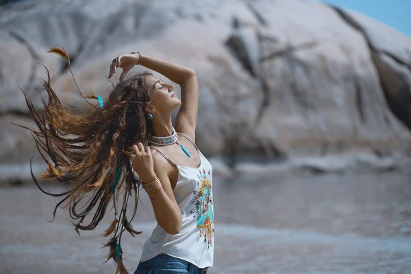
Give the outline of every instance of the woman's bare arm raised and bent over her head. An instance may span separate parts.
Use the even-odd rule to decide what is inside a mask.
[[[117,58],[117,62],[114,63],[114,73],[116,68],[121,66],[123,68],[123,73],[120,76],[120,81],[123,81],[127,72],[132,69],[134,64],[127,66],[122,65],[122,60],[124,62],[129,62],[133,60],[134,64],[140,64],[145,66],[147,69],[152,69],[158,73],[164,75],[165,77],[171,79],[181,87],[182,95],[179,112],[175,119],[175,130],[177,132],[182,132],[187,134],[195,140],[195,128],[197,127],[197,112],[199,108],[199,86],[197,82],[197,75],[194,69],[190,69],[187,66],[180,66],[179,64],[174,64],[172,62],[159,60],[152,58],[147,55],[142,55],[140,53],[134,54],[124,54]],[[126,61],[127,60],[127,61]],[[112,70],[110,70],[110,76],[112,76]]]

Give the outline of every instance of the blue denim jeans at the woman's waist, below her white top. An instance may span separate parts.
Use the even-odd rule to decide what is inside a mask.
[[[140,262],[134,274],[206,274],[207,269],[199,269],[190,262],[161,253]]]

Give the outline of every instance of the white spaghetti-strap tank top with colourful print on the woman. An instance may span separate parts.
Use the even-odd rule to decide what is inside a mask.
[[[173,192],[182,212],[182,230],[172,235],[157,224],[153,234],[142,247],[141,261],[166,253],[202,269],[212,266],[214,259],[212,166],[190,137],[182,133],[177,134],[187,138],[197,149],[201,159],[197,169],[177,164],[162,151],[155,147],[151,148],[177,167],[178,179]]]

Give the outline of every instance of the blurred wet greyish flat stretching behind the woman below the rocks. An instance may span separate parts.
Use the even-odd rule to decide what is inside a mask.
[[[63,187],[48,186],[58,192]],[[214,178],[215,258],[209,273],[411,273],[411,175]],[[141,195],[124,234],[133,273],[155,222]],[[77,237],[66,209],[35,186],[0,188],[1,273],[114,273],[99,237],[114,213]]]

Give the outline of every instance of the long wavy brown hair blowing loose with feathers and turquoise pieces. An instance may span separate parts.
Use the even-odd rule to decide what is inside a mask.
[[[70,69],[70,60],[64,49],[53,48],[49,52],[65,58]],[[134,230],[130,224],[137,211],[140,182],[133,176],[132,164],[126,152],[138,142],[147,144],[153,126],[145,112],[150,101],[145,77],[151,73],[139,73],[117,84],[108,99],[101,101],[102,108],[96,104],[91,111],[73,114],[63,108],[51,88],[49,71],[47,68],[46,70],[48,79],[42,80],[41,88],[47,91],[49,98],[48,102],[42,101],[42,115],[22,90],[37,126],[37,129],[25,128],[32,132],[37,149],[47,163],[47,172],[42,173],[42,179],[55,178],[58,182],[70,183],[73,187],[67,192],[50,193],[38,184],[31,169],[32,178],[45,194],[62,197],[53,211],[53,220],[59,206],[68,206],[77,233],[79,229],[95,229],[112,201],[115,219],[103,234],[110,236],[114,233],[105,245],[110,247],[107,259],[113,258],[116,262],[116,273],[127,273],[121,259],[121,235],[125,230],[133,236],[141,232]],[[80,94],[82,95],[82,92]],[[95,94],[82,97],[101,100],[101,97]],[[31,164],[32,162],[30,166]],[[135,204],[132,217],[128,221],[126,209],[129,197],[134,197]],[[120,214],[119,201],[122,203]],[[84,224],[86,216],[96,206],[90,223]]]

